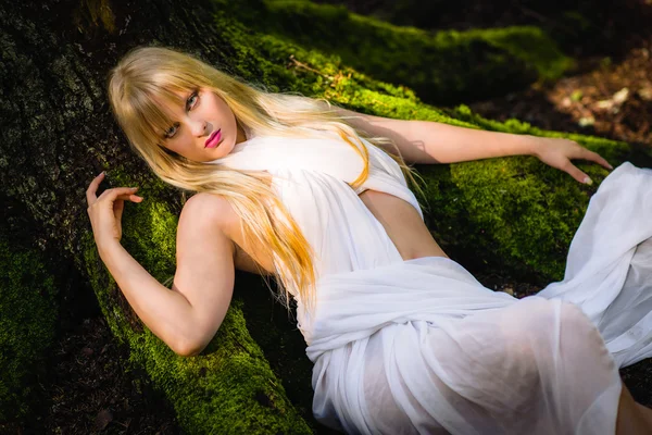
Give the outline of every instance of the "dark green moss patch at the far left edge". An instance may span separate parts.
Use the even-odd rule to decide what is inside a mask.
[[[25,419],[57,332],[57,286],[35,249],[0,238],[0,422]]]

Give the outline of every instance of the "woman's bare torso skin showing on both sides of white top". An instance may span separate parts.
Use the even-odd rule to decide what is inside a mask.
[[[412,204],[377,190],[365,190],[360,194],[360,199],[383,225],[403,260],[423,257],[448,258]],[[260,248],[247,246],[240,232],[236,231],[236,226],[229,233],[236,245],[234,257],[236,269],[258,274],[273,273],[271,258],[264,256]]]

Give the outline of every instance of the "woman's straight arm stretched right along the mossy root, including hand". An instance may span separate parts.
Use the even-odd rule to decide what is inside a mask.
[[[572,159],[589,160],[612,169],[598,153],[569,139],[488,132],[434,121],[393,120],[344,109],[338,109],[338,112],[351,116],[347,122],[369,135],[391,138],[408,163],[456,163],[505,156],[535,156],[588,184],[590,178],[570,162]]]

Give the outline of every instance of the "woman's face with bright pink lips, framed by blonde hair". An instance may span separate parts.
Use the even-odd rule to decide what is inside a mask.
[[[196,162],[225,157],[247,140],[226,102],[210,89],[200,88],[181,96],[186,107],[167,108],[176,120],[162,134],[166,149]]]

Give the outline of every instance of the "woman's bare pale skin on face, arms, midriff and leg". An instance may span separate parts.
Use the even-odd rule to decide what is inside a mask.
[[[190,160],[205,162],[228,154],[246,140],[234,113],[223,99],[199,89],[186,96],[186,107],[167,108],[178,120],[161,132],[162,146]],[[373,136],[393,139],[406,163],[454,163],[505,156],[534,156],[568,173],[580,183],[588,176],[572,160],[611,165],[580,145],[557,138],[512,135],[426,121],[401,121],[339,109],[348,122]],[[206,148],[206,139],[221,129],[221,142]],[[388,149],[389,152],[394,150]],[[141,202],[137,188],[97,190],[98,175],[86,197],[99,254],[136,314],[177,355],[199,355],[222,324],[230,303],[235,270],[271,273],[272,259],[241,234],[239,216],[223,198],[199,194],[181,211],[177,229],[177,269],[172,290],[153,278],[121,245],[121,217],[125,201]],[[362,201],[383,224],[404,260],[447,257],[414,208],[387,194],[366,190]],[[617,434],[652,432],[652,410],[637,403],[623,386]]]

